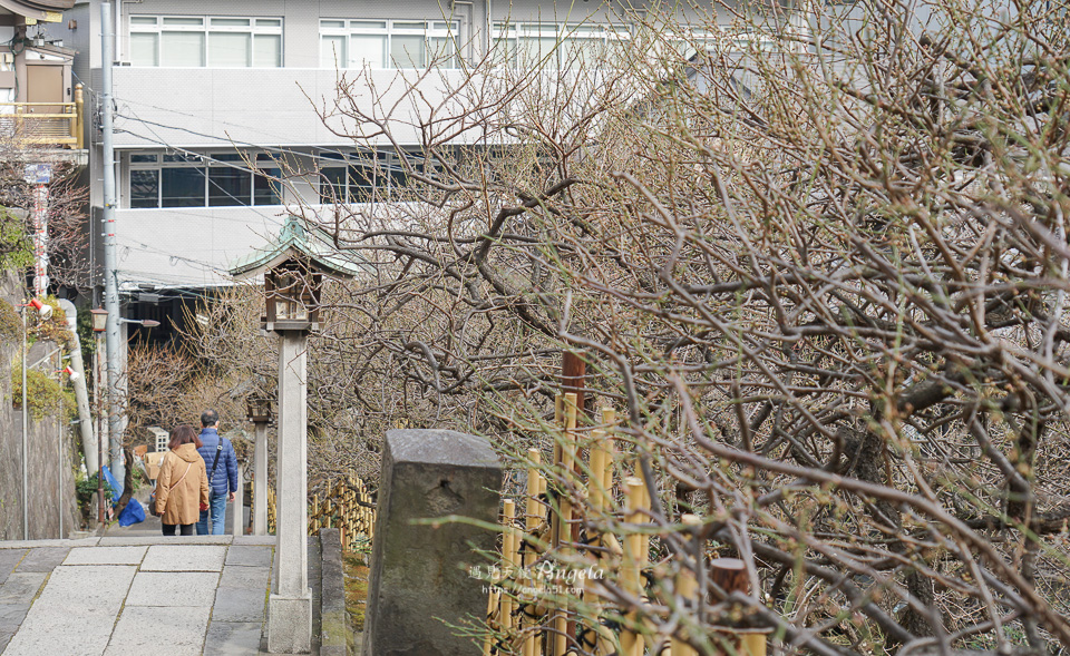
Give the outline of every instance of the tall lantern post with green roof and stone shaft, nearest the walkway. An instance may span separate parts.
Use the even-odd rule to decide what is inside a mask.
[[[274,244],[231,268],[263,273],[266,306],[261,327],[279,335],[276,526],[274,587],[268,598],[268,650],[300,654],[312,644],[312,591],[308,574],[308,337],[319,329],[324,275],[352,277],[359,268],[338,256],[319,231],[290,217]]]

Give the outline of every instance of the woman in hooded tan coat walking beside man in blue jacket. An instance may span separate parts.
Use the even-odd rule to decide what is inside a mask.
[[[183,424],[171,431],[167,446],[171,451],[156,477],[156,511],[165,536],[175,535],[176,528],[192,536],[201,511],[208,507],[208,474],[197,452],[201,440],[193,427]]]

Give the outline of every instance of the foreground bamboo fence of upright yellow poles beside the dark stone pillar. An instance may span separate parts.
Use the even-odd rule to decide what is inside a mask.
[[[582,384],[582,383],[581,383]],[[568,389],[567,386],[565,389]],[[577,430],[576,393],[558,395],[555,403],[554,464],[552,476],[563,477],[553,486],[541,470],[541,453],[528,450],[526,491],[519,502],[503,503],[500,562],[492,568],[487,604],[488,635],[483,654],[515,656],[698,656],[685,629],[671,639],[655,640],[642,617],[650,616],[653,604],[672,607],[662,593],[649,587],[651,498],[639,467],[623,462],[614,448],[612,409],[601,411],[602,429],[582,438]],[[583,458],[586,453],[586,459]],[[628,470],[636,476],[630,476]],[[565,480],[567,479],[567,480]],[[561,484],[566,483],[566,484]],[[571,483],[571,484],[570,484]],[[568,488],[572,493],[567,493]],[[578,493],[577,493],[578,492]],[[573,500],[583,501],[573,506]],[[619,538],[612,532],[591,535],[588,519],[615,517],[626,528]],[[700,525],[701,518],[685,515],[684,525]],[[553,564],[551,566],[551,564]],[[721,589],[747,591],[749,581],[743,561],[719,558],[708,561],[710,578]],[[631,598],[630,607],[614,605],[596,576],[570,578],[567,570],[588,567],[591,572],[616,572],[616,581]],[[568,588],[562,595],[562,588]],[[699,582],[682,568],[672,589],[691,608],[698,604]],[[570,603],[575,607],[570,608]],[[644,613],[639,608],[645,606]],[[615,620],[613,619],[615,618]],[[765,656],[766,631],[718,627],[708,634],[719,645],[717,654]]]

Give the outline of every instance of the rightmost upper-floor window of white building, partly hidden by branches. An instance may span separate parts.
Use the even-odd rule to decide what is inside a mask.
[[[625,41],[624,26],[495,23],[496,57],[514,67],[581,68],[604,57],[612,43]]]

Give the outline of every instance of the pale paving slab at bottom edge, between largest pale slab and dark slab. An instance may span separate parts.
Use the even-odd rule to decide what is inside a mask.
[[[211,613],[211,608],[128,605],[123,609],[104,656],[200,656]]]

